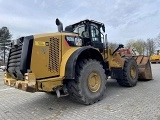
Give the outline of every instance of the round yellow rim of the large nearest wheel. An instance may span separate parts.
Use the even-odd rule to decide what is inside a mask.
[[[101,77],[97,72],[91,72],[88,76],[88,88],[91,92],[97,92],[101,86]]]

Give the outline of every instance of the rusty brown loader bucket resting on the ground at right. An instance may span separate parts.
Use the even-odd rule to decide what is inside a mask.
[[[139,55],[133,56],[138,65],[138,79],[152,80],[152,70],[148,56]]]

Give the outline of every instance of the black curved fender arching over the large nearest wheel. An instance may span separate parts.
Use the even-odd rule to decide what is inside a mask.
[[[89,55],[87,58],[103,61],[103,57],[97,49],[91,46],[81,47],[74,51],[73,54],[69,57],[65,67],[65,79],[75,79],[75,68],[77,59],[79,58],[79,56],[84,57],[83,55],[86,53],[87,55]]]

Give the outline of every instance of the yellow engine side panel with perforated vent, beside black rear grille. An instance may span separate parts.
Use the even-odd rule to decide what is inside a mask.
[[[60,33],[34,36],[31,70],[37,79],[59,75],[61,41]]]

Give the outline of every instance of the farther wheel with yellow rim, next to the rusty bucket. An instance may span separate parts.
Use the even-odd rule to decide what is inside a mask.
[[[138,81],[138,66],[133,58],[125,58],[123,79],[117,79],[121,86],[133,87]]]

